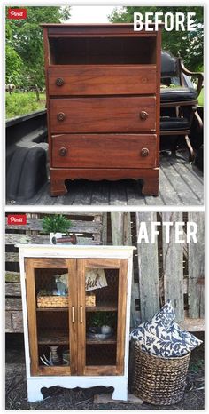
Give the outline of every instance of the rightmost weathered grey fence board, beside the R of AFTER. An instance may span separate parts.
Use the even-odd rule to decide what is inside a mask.
[[[205,314],[205,220],[204,212],[189,212],[189,221],[197,224],[197,243],[189,244],[189,316]]]

